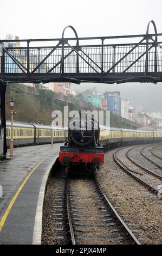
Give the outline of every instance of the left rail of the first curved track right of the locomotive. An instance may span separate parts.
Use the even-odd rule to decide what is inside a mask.
[[[122,148],[123,149],[123,148]],[[128,170],[128,168],[125,167],[125,164],[122,163],[121,160],[119,160],[119,158],[116,156],[116,153],[118,153],[121,149],[118,149],[114,152],[113,158],[115,163],[118,164],[118,166],[123,169],[127,174],[131,175],[135,180],[137,180],[138,182],[140,182],[140,184],[144,185],[145,187],[147,187],[151,192],[153,193],[158,193],[159,190],[157,190],[155,187],[152,187],[150,184],[148,184],[147,182],[143,181],[142,179],[138,178],[137,176],[135,176],[131,171]]]

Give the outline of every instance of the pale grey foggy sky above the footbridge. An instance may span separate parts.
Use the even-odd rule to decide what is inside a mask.
[[[60,38],[68,25],[80,37],[144,34],[150,20],[162,32],[161,0],[1,0],[0,7],[1,38]]]

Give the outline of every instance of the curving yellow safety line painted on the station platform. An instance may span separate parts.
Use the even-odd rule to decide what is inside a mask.
[[[8,215],[9,215],[10,210],[12,209],[12,206],[13,206],[14,203],[15,203],[16,198],[18,197],[18,195],[20,194],[22,188],[24,187],[24,185],[26,184],[26,182],[27,182],[28,179],[30,178],[31,174],[34,173],[34,171],[37,169],[37,167],[40,166],[40,164],[43,163],[44,160],[46,160],[49,156],[51,156],[51,155],[53,155],[53,154],[55,154],[55,153],[52,153],[52,154],[50,154],[50,155],[44,157],[44,158],[41,160],[41,162],[37,163],[36,166],[35,166],[35,167],[31,170],[31,172],[28,174],[28,176],[24,179],[24,181],[22,182],[21,186],[18,188],[18,190],[16,191],[14,197],[12,198],[12,200],[11,200],[11,202],[10,202],[10,204],[9,204],[9,206],[8,206],[8,208],[7,208],[7,210],[5,210],[4,215],[2,216],[2,219],[1,219],[1,221],[0,221],[0,232],[1,232],[2,228],[3,228],[3,225],[4,225],[4,223],[5,223],[5,221],[6,221],[7,217],[8,217]]]

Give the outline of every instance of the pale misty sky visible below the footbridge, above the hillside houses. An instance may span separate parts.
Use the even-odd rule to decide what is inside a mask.
[[[120,96],[129,100],[133,107],[142,106],[142,109],[148,112],[162,113],[162,83],[122,83],[122,84],[100,84],[100,83],[82,83],[74,84],[77,92],[83,92],[88,88],[94,88],[104,93],[120,92]]]

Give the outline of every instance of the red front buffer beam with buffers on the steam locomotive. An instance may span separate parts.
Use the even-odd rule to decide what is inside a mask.
[[[102,147],[96,148],[73,148],[73,147],[60,147],[59,162],[64,166],[69,162],[73,163],[94,163],[102,164],[104,162],[104,153]]]

